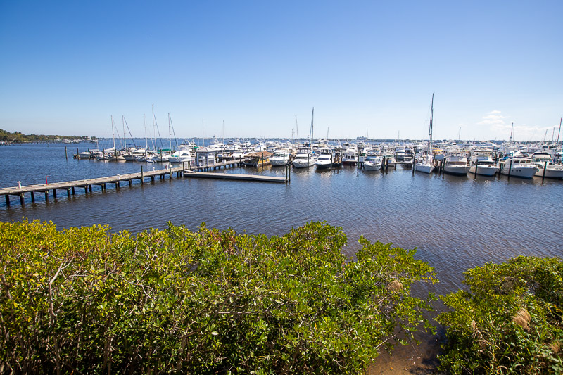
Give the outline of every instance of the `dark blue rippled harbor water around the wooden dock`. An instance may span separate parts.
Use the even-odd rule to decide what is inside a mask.
[[[164,165],[74,159],[88,144],[0,147],[0,187],[63,182],[164,168]],[[226,173],[283,177],[283,167],[234,168]],[[436,269],[438,294],[461,288],[462,273],[486,262],[517,255],[562,256],[563,181],[533,177],[481,177],[412,174],[397,167],[366,172],[292,170],[290,184],[172,178],[138,180],[119,189],[77,189],[68,198],[0,201],[0,220],[47,220],[58,228],[105,224],[112,231],[165,228],[167,222],[191,230],[233,228],[247,234],[285,234],[305,222],[326,221],[348,236],[344,251],[353,256],[358,239],[417,248],[416,257]]]

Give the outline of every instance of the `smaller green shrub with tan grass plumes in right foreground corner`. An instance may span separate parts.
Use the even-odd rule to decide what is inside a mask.
[[[469,291],[443,297],[448,343],[441,367],[454,374],[561,374],[563,263],[518,257],[469,269]]]

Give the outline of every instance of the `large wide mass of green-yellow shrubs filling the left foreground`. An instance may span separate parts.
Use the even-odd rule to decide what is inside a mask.
[[[284,236],[0,223],[0,372],[358,374],[431,329],[415,250]],[[2,371],[3,369],[3,371]]]

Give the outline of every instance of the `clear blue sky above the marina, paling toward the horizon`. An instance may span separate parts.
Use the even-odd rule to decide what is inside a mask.
[[[563,1],[0,0],[0,128],[552,139]],[[557,136],[557,134],[556,134]]]

